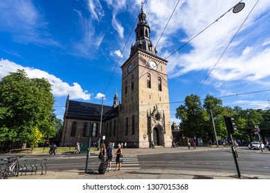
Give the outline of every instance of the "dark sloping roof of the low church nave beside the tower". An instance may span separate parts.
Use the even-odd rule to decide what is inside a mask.
[[[66,107],[66,118],[88,119],[100,121],[102,105],[69,100]],[[103,105],[102,120],[106,121],[118,116],[118,107]]]

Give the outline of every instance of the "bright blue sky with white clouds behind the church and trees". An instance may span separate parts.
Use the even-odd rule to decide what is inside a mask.
[[[190,94],[269,108],[270,1],[242,1],[233,13],[239,1],[144,1],[150,39],[168,60],[171,121]],[[48,79],[62,120],[68,94],[113,105],[140,10],[141,0],[0,1],[0,79],[17,69]]]

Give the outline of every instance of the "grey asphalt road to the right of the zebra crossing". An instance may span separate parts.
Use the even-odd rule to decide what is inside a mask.
[[[259,151],[259,150],[258,150]],[[241,174],[261,174],[270,176],[270,154],[260,154],[253,150],[238,149],[237,163]],[[235,161],[231,148],[219,151],[205,151],[138,156],[141,170],[188,170],[206,172],[235,172]]]

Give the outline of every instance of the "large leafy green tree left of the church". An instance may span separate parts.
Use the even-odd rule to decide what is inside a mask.
[[[0,81],[0,141],[31,143],[35,128],[54,136],[54,98],[45,79],[29,79],[24,70],[10,72]]]

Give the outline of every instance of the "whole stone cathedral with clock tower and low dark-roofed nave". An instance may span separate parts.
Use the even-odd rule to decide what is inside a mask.
[[[136,42],[121,66],[121,103],[114,95],[111,106],[66,99],[61,146],[77,142],[126,143],[127,148],[172,144],[167,62],[156,55],[143,7],[138,15]]]

